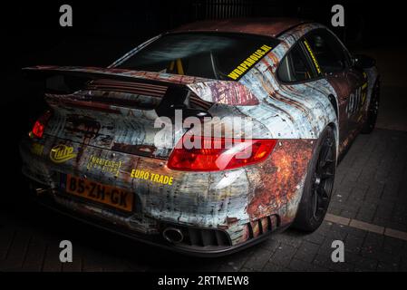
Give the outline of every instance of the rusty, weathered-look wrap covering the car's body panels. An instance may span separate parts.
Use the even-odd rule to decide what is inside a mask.
[[[324,28],[320,24],[291,20],[274,24],[236,21],[223,24],[191,24],[177,32],[218,31],[223,27],[226,32],[277,35],[280,43],[238,82],[114,68],[154,39],[105,69],[30,68],[31,71],[56,73],[93,73],[101,79],[90,82],[80,92],[46,96],[53,118],[45,129],[43,140],[22,141],[24,174],[53,189],[54,201],[63,207],[144,234],[160,234],[161,222],[218,228],[228,233],[232,246],[237,246],[289,225],[296,217],[308,163],[319,134],[326,126],[333,126],[338,151],[344,150],[354,138],[356,131],[350,132],[346,121],[348,83],[344,78],[319,78],[286,85],[276,78],[278,63],[291,46],[307,32]],[[372,69],[366,75],[369,102],[377,72]],[[111,80],[112,77],[120,80]],[[166,164],[172,147],[154,143],[154,137],[160,131],[154,128],[154,121],[159,117],[154,109],[172,85],[188,89],[191,102],[214,117],[248,118],[247,124],[252,128],[250,137],[276,139],[276,148],[264,162],[239,169],[218,172],[168,169]],[[336,108],[329,95],[337,102]],[[208,124],[217,128],[222,122],[212,120]],[[231,123],[227,121],[225,128],[228,131]],[[185,131],[171,132],[167,137],[175,144]],[[233,132],[233,136],[247,137],[240,131]],[[34,142],[44,145],[42,153],[33,153]],[[75,158],[62,164],[53,163],[49,154],[53,146],[59,144],[73,147]],[[88,169],[92,156],[121,161],[120,174],[114,176]],[[149,179],[134,179],[131,177],[134,169],[169,176],[173,183],[163,185]],[[133,192],[137,203],[134,212],[123,215],[111,208],[67,198],[61,193],[61,177],[66,174],[86,176]]]

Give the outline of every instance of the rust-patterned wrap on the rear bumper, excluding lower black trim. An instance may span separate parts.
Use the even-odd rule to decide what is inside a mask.
[[[32,140],[22,143],[21,154],[24,174],[55,189],[55,200],[62,202],[65,207],[92,212],[92,215],[107,220],[114,219],[142,233],[157,233],[160,221],[194,227],[218,227],[226,230],[233,245],[236,245],[247,238],[244,227],[250,221],[280,213],[286,215],[284,224],[294,218],[289,213],[295,213],[312,143],[312,140],[282,140],[262,165],[225,172],[171,170],[162,160],[121,152],[112,154],[111,150],[54,137],[42,143],[42,156],[29,153]],[[49,154],[59,144],[73,147],[76,157],[63,164],[53,163]],[[119,176],[99,169],[88,169],[92,156],[120,160],[122,165]],[[172,185],[162,185],[150,180],[133,179],[133,169],[170,176],[174,181]],[[37,170],[41,170],[41,174]],[[33,172],[37,173],[34,175]],[[86,175],[86,179],[127,189],[137,196],[136,200],[140,204],[136,208],[139,210],[126,217],[115,214],[116,211],[109,208],[66,201],[58,194],[61,190],[61,173],[79,177]]]

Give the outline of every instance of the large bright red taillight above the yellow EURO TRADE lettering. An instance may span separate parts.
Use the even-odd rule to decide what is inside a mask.
[[[184,136],[170,155],[168,167],[186,171],[218,171],[236,169],[266,160],[276,146],[276,140],[228,140],[223,138],[193,137],[197,149],[187,149]],[[198,140],[197,140],[198,139]],[[190,146],[188,146],[190,147]]]

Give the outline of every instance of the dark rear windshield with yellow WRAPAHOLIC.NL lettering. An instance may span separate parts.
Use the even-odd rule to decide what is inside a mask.
[[[274,38],[251,34],[165,34],[117,67],[238,80],[276,44]]]

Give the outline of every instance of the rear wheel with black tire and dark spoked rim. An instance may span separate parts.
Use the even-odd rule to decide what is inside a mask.
[[[331,200],[336,169],[334,130],[326,127],[317,141],[308,167],[293,227],[313,232],[321,226]]]

